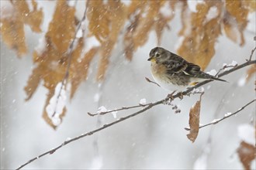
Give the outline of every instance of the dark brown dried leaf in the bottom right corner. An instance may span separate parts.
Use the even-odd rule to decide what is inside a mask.
[[[240,162],[243,164],[244,169],[251,169],[251,162],[256,158],[255,146],[247,144],[245,141],[240,143],[240,147],[237,148],[237,154],[240,158]]]

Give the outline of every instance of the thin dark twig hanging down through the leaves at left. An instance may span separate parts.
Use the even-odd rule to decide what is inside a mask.
[[[72,51],[74,49],[74,42],[78,39],[77,35],[78,35],[79,29],[81,28],[81,23],[85,22],[87,6],[88,5],[86,5],[86,7],[85,7],[85,12],[84,12],[83,18],[78,23],[78,27],[74,32],[74,39],[72,39],[71,44],[69,45],[69,47],[67,49],[67,68],[66,68],[63,80],[61,81],[61,90],[64,89],[66,84],[67,84],[67,79],[68,79],[68,76],[69,76],[69,70],[70,70],[70,67],[71,67],[71,59],[72,59]],[[84,33],[84,31],[83,31],[83,33]],[[58,104],[58,102],[60,100],[60,97],[61,97],[61,90],[57,95],[57,100],[56,100],[56,104],[55,104],[56,107],[54,108],[54,114],[52,115],[52,117],[54,117],[54,115],[56,114],[57,104]]]

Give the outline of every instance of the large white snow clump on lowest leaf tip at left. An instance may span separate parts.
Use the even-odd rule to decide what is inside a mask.
[[[57,126],[61,124],[61,117],[64,107],[66,106],[66,90],[64,85],[60,82],[55,87],[54,96],[50,98],[50,102],[46,107],[47,115],[52,123]]]

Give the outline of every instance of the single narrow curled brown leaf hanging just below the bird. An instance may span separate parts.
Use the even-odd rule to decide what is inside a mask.
[[[202,93],[203,94],[203,93]],[[187,137],[190,141],[194,142],[199,134],[199,120],[200,120],[200,107],[202,94],[200,95],[200,99],[193,105],[189,111],[189,127],[190,131],[187,134]]]

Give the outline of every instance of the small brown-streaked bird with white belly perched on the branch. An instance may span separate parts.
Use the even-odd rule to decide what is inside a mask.
[[[189,63],[167,49],[155,47],[151,49],[149,56],[150,58],[147,60],[151,62],[152,76],[166,90],[182,91],[204,80],[226,82],[226,80],[202,72],[200,66]]]

